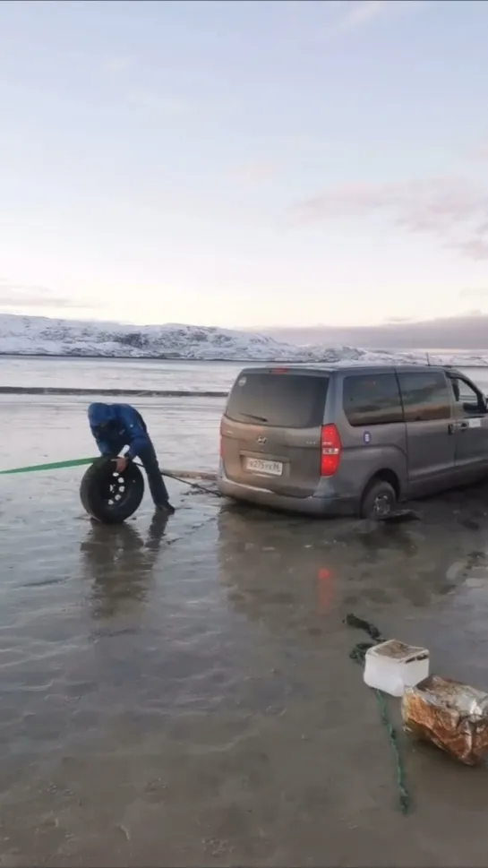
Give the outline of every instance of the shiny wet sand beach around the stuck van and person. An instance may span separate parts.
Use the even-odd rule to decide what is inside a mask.
[[[221,401],[138,406],[162,463],[215,468]],[[1,400],[3,466],[92,454],[85,407]],[[0,865],[486,864],[486,769],[401,735],[398,811],[343,619],[488,688],[488,486],[378,528],[170,482],[167,524],[146,495],[110,529],[81,474],[1,481]]]

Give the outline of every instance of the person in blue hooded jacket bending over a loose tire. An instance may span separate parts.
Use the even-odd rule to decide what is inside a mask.
[[[119,473],[124,473],[128,461],[141,459],[156,509],[172,515],[175,508],[169,503],[158,457],[141,413],[130,404],[90,404],[88,420],[100,453],[116,459]],[[119,456],[124,446],[129,449],[124,456]]]

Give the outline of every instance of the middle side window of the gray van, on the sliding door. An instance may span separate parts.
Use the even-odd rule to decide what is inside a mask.
[[[452,387],[440,371],[402,374],[398,382],[405,409],[406,422],[430,422],[449,419]]]

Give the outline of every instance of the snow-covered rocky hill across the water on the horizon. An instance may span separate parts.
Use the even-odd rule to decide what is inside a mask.
[[[192,325],[127,325],[0,314],[0,353],[21,356],[104,356],[238,361],[424,361],[422,353],[392,354],[354,347],[297,346],[267,335]],[[455,360],[453,360],[455,361]],[[475,362],[476,360],[473,359]],[[486,362],[485,359],[478,359]],[[463,358],[467,364],[467,358]]]

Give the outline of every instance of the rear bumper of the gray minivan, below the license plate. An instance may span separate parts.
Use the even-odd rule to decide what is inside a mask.
[[[244,501],[244,503],[254,503],[256,506],[269,507],[273,510],[300,512],[303,515],[318,517],[355,515],[359,510],[358,499],[341,497],[334,491],[328,479],[322,480],[321,487],[311,497],[289,497],[284,494],[276,494],[276,492],[266,488],[255,488],[233,482],[226,477],[220,468],[217,486],[220,494],[225,497]]]

